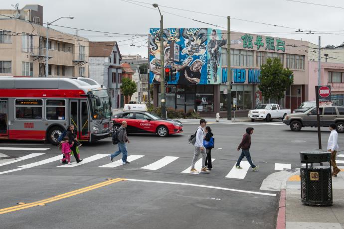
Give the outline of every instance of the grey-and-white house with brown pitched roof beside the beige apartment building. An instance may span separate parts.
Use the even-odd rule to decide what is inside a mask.
[[[115,41],[92,41],[90,45],[90,78],[106,86],[111,96],[112,108],[123,107],[121,101],[121,53]]]

